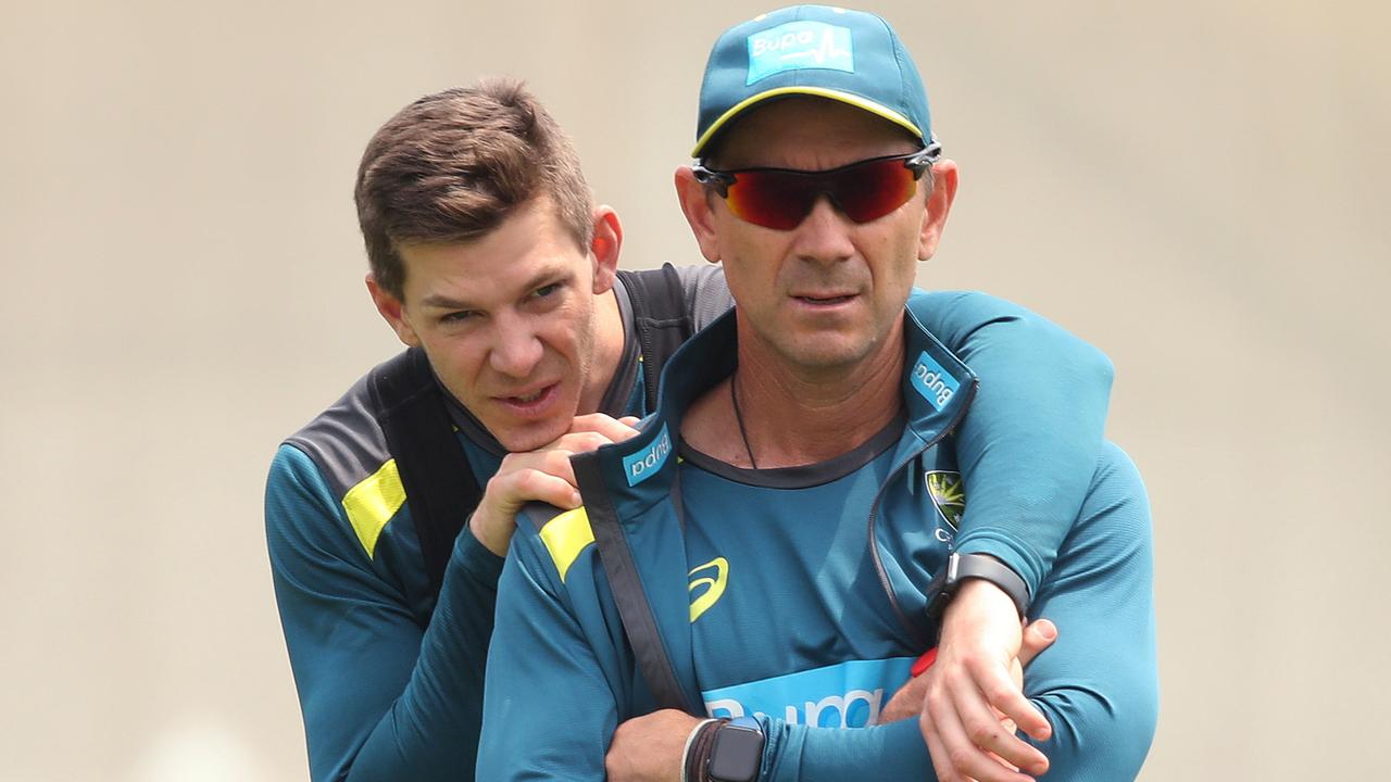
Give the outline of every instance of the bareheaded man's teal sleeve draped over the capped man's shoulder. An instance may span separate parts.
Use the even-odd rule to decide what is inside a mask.
[[[981,384],[957,430],[965,512],[954,548],[990,554],[1036,594],[1102,449],[1111,363],[1046,319],[985,294],[918,294],[915,312]]]

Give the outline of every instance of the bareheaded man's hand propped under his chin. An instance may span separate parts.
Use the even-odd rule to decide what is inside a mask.
[[[637,434],[637,419],[613,419],[604,413],[577,416],[570,430],[554,441],[524,454],[508,454],[483,490],[479,508],[469,518],[473,537],[488,551],[504,557],[516,515],[527,502],[548,502],[566,511],[580,506],[580,490],[570,469],[570,456],[620,442]]]

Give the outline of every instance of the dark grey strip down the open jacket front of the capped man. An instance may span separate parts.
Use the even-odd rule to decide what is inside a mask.
[[[633,647],[633,660],[637,662],[638,673],[647,682],[652,697],[657,699],[658,708],[679,708],[687,714],[696,714],[676,682],[676,671],[666,655],[666,647],[657,629],[657,618],[652,614],[652,607],[647,603],[643,583],[638,580],[633,552],[623,538],[618,513],[613,512],[609,495],[604,490],[598,456],[579,454],[570,458],[570,465],[574,468],[574,479],[580,484],[580,493],[586,497],[584,512],[590,518],[590,529],[594,530],[594,547],[604,564],[604,575],[608,576],[609,589],[613,590],[613,604],[623,622],[627,643]]]

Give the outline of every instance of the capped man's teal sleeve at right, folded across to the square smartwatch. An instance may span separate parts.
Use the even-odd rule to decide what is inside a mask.
[[[1046,742],[1032,743],[1050,763],[1047,778],[1068,782],[1134,779],[1157,715],[1153,565],[1143,487],[1134,465],[1110,445],[1103,447],[1092,474],[1072,534],[1032,608],[1035,616],[1057,626],[1057,640],[1024,673],[1025,694],[1052,726]],[[855,763],[865,764],[860,772],[878,768],[875,761],[926,763],[915,721],[886,728],[875,735],[876,729],[771,724],[765,779],[836,778],[854,774]],[[928,765],[896,765],[883,778],[932,778]]]

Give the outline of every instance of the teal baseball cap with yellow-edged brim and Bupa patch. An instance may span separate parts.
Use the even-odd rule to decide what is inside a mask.
[[[691,157],[743,113],[790,95],[849,103],[932,143],[928,93],[889,22],[865,11],[791,6],[734,25],[715,42]]]

